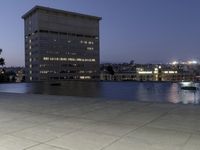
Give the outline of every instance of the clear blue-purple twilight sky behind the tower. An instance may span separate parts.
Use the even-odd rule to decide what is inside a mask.
[[[1,0],[0,48],[6,66],[24,65],[21,16],[35,5],[102,17],[101,62],[200,58],[200,0]]]

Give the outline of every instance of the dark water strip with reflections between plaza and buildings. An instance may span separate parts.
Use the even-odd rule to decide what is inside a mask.
[[[63,82],[0,84],[0,92],[84,96],[117,100],[198,103],[199,92],[180,90],[177,83],[153,82]]]

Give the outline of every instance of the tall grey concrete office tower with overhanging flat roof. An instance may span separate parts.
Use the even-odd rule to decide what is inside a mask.
[[[27,81],[99,79],[100,17],[35,6],[22,18]]]

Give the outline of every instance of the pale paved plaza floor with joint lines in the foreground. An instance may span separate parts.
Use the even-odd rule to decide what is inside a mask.
[[[199,105],[0,93],[0,150],[199,149]]]

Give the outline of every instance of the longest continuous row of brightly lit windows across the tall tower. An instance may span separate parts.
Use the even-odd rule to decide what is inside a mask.
[[[64,58],[64,57],[43,57],[45,61],[83,61],[83,62],[95,62],[94,58]]]

